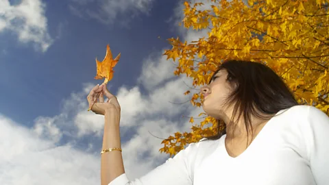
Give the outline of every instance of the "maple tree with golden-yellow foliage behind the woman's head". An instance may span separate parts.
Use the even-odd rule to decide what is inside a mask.
[[[287,83],[300,104],[312,105],[328,114],[329,14],[326,0],[249,0],[184,2],[182,25],[208,32],[208,36],[181,41],[169,38],[164,51],[174,60],[175,75],[206,84],[223,60],[251,60],[271,67]],[[187,90],[187,89],[186,89]],[[187,90],[185,95],[191,93]],[[191,94],[192,95],[192,94]],[[193,106],[202,106],[203,95],[192,95]],[[200,117],[201,116],[201,117]],[[203,117],[202,117],[203,116]],[[176,132],[162,141],[160,152],[171,156],[188,143],[212,136],[223,123],[204,112],[191,132]]]

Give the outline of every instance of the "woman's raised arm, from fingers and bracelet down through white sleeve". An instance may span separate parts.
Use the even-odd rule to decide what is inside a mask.
[[[97,93],[99,102],[97,101]],[[104,103],[103,94],[109,101]],[[87,97],[91,110],[96,114],[103,114],[105,125],[103,132],[102,151],[111,148],[121,149],[120,140],[120,106],[117,98],[111,95],[106,86],[95,86]],[[174,158],[150,171],[136,180],[128,180],[123,167],[121,151],[107,151],[101,154],[101,185],[192,185],[193,164],[196,145],[190,144],[180,151]],[[122,151],[125,152],[125,151]],[[131,156],[134,158],[134,156]]]

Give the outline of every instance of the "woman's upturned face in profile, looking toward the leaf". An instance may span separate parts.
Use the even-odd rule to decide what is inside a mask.
[[[221,119],[224,113],[223,103],[232,92],[232,86],[226,81],[228,72],[222,69],[212,77],[209,85],[201,88],[204,94],[202,108],[215,119]]]

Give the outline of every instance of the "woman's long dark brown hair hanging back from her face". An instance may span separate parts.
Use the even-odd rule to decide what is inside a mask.
[[[226,81],[236,85],[226,99],[225,105],[235,103],[232,120],[239,121],[241,117],[243,118],[248,138],[249,128],[252,130],[252,116],[269,119],[271,116],[264,115],[273,115],[280,110],[298,105],[293,93],[282,78],[265,64],[228,60],[219,66],[214,75],[222,69],[226,69],[228,72]],[[217,134],[206,138],[217,140],[226,134],[226,124],[221,120],[217,120],[217,124]]]

